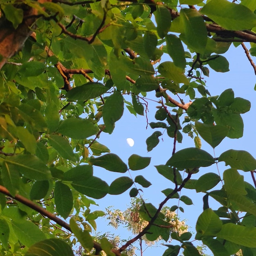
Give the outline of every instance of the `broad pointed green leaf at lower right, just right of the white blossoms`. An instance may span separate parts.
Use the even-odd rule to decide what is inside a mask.
[[[196,239],[202,236],[216,236],[222,228],[222,221],[211,208],[208,208],[200,214],[196,222]]]

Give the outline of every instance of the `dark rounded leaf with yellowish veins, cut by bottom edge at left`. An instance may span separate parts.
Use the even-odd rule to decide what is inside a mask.
[[[25,256],[74,256],[72,248],[61,239],[43,240],[29,247]]]

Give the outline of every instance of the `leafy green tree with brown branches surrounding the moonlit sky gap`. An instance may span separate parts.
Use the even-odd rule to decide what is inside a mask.
[[[211,96],[203,76],[209,76],[209,67],[229,71],[221,54],[231,43],[243,47],[256,73],[250,56],[256,56],[254,1],[2,0],[0,7],[3,255],[71,256],[80,243],[84,255],[119,256],[143,237],[165,240],[164,256],[200,255],[193,239],[215,256],[256,255],[256,159],[243,150],[213,157],[201,149],[201,138],[214,149],[225,137],[243,136],[241,114],[250,102],[235,97],[232,88]],[[168,61],[161,61],[163,54]],[[145,115],[147,94],[158,104],[147,150],[167,132],[172,153],[155,167],[170,188],[162,191],[166,198],[159,206],[142,202],[137,213],[143,229],[113,248],[106,237],[92,236],[104,213],[90,211],[96,204],[91,198],[114,197],[131,187],[130,197],[140,197],[150,181],[122,173],[146,168],[150,157],[131,155],[127,166],[100,144],[99,135],[113,132],[124,106]],[[176,152],[180,130],[194,138],[195,147]],[[223,176],[208,172],[193,178],[219,162],[229,165]],[[117,178],[107,184],[93,175],[95,166]],[[251,172],[252,184],[243,172]],[[179,233],[163,213],[169,200],[190,205],[187,189],[204,193],[195,237]],[[181,190],[187,195],[180,196]],[[209,197],[221,207],[211,209]],[[182,210],[171,211],[177,208]]]

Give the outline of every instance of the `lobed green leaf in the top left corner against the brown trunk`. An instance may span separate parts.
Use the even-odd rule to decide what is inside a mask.
[[[1,9],[7,20],[11,21],[13,27],[17,29],[23,20],[23,10],[15,8],[13,4],[1,4]]]

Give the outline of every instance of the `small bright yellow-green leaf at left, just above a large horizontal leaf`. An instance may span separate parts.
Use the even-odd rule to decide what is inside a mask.
[[[26,150],[34,155],[36,153],[36,139],[26,128],[16,127],[16,132],[19,140],[25,146]]]

